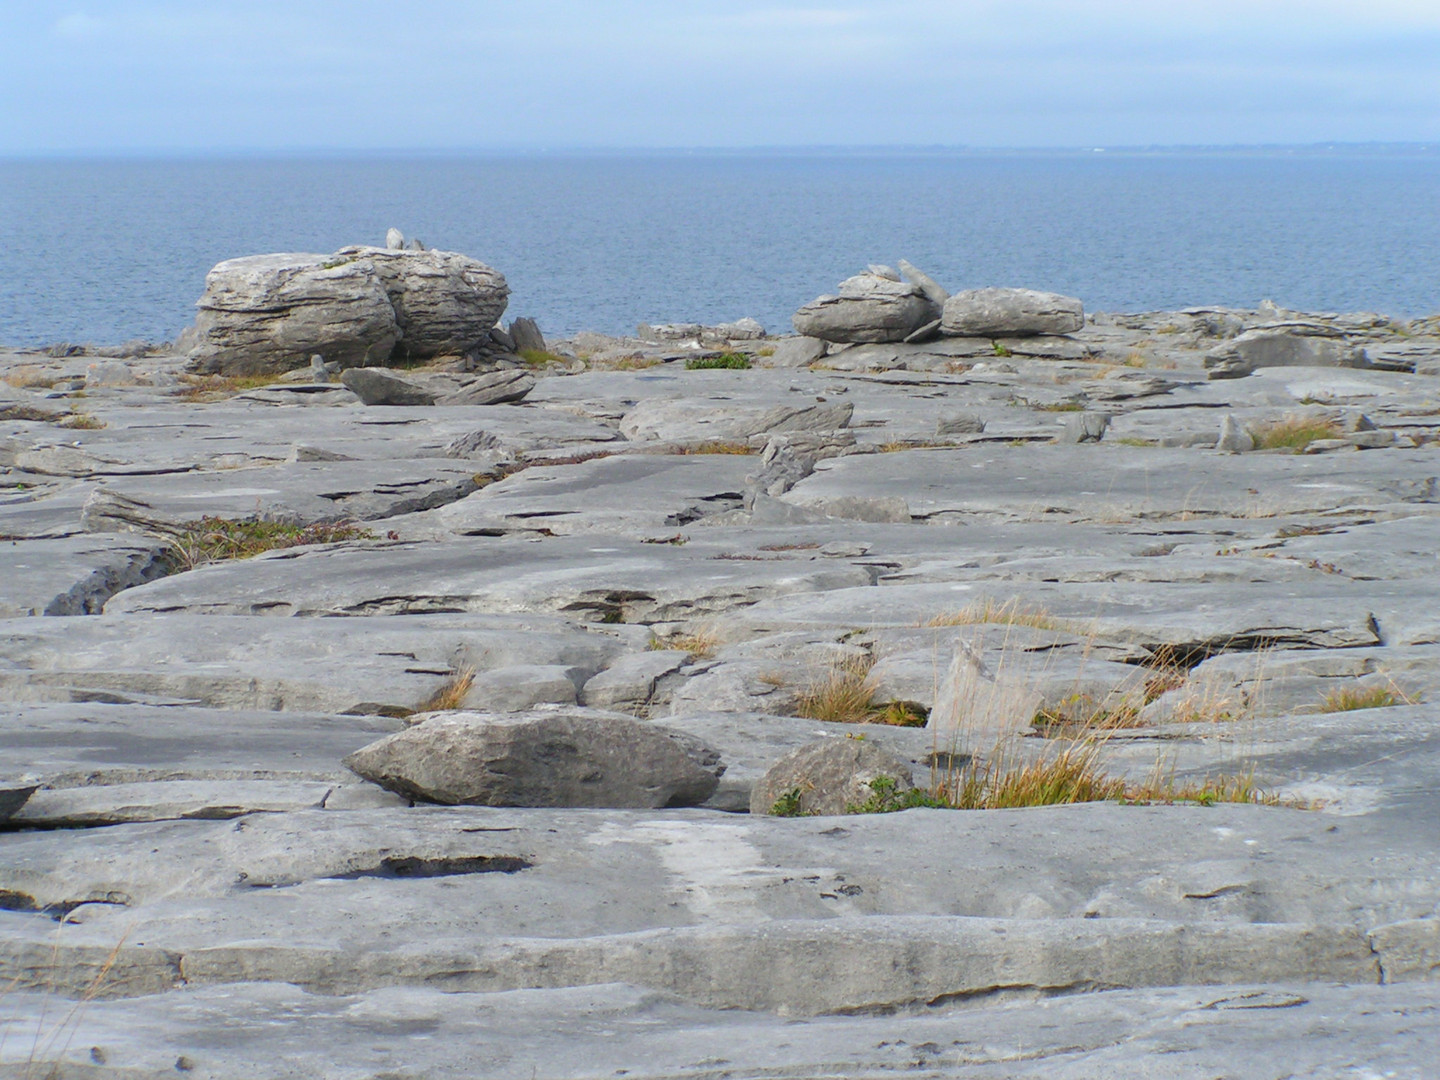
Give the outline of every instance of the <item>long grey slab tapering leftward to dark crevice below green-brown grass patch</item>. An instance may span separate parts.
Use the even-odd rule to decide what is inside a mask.
[[[468,537],[281,552],[130,589],[111,612],[413,615],[567,612],[655,622],[711,618],[765,596],[870,585],[837,559],[726,559],[720,544],[622,537]]]

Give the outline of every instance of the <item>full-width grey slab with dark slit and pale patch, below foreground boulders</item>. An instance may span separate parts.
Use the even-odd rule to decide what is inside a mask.
[[[1440,873],[1433,842],[1384,816],[1341,821],[1106,804],[844,819],[426,808],[14,834],[0,887],[37,910],[0,919],[0,969],[19,988],[53,976],[39,909],[62,906],[78,988],[122,932],[137,943],[107,976],[120,994],[168,989],[180,965],[192,986],[621,981],[804,1015],[998,985],[1424,978],[1437,935],[1416,883]],[[1361,865],[1362,896],[1329,887]],[[276,919],[284,943],[265,932]]]

